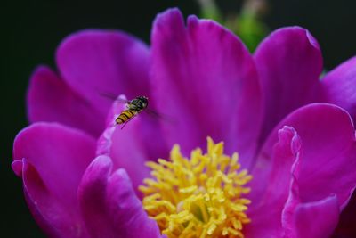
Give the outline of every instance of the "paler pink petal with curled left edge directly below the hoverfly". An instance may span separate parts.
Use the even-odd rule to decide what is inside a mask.
[[[142,180],[150,176],[146,160],[166,158],[168,150],[158,127],[158,121],[150,119],[143,112],[132,119],[125,128],[115,124],[115,119],[123,110],[123,105],[113,103],[109,111],[108,127],[99,138],[98,155],[107,155],[112,159],[114,170],[125,168],[133,182],[137,194]]]

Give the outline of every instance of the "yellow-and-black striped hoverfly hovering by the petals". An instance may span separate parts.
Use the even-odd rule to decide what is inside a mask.
[[[121,111],[115,121],[117,125],[123,124],[123,127],[121,128],[124,128],[131,119],[134,119],[136,115],[147,108],[149,99],[145,96],[138,96],[131,101],[123,100],[122,103],[126,103],[126,109]]]

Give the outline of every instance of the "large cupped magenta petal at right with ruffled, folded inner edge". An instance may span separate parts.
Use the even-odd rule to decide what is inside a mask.
[[[295,133],[288,135],[286,129],[290,127],[295,128]],[[338,210],[344,208],[356,185],[355,145],[352,120],[346,111],[335,105],[310,104],[288,115],[263,145],[252,171],[250,197],[253,205],[249,213],[254,233],[251,234],[257,234],[267,225],[272,234],[280,235],[279,228],[287,232],[292,226],[290,217],[296,216],[295,210],[300,203],[323,201],[333,193]],[[283,208],[286,201],[287,207]],[[289,221],[284,221],[283,226],[282,217]],[[320,221],[320,224],[329,226],[331,221],[335,219]]]

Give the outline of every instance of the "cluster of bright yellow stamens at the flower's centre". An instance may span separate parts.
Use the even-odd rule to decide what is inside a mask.
[[[140,186],[143,207],[168,237],[244,237],[250,222],[245,213],[249,200],[243,198],[252,179],[240,170],[238,153],[223,154],[223,143],[207,138],[207,153],[200,149],[184,158],[178,145],[171,161],[148,162],[154,178]]]

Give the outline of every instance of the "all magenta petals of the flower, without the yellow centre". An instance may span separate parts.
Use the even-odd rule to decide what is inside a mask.
[[[150,48],[85,30],[56,60],[59,73],[41,66],[31,78],[32,125],[12,163],[45,234],[159,237],[138,191],[150,177],[144,162],[167,158],[173,144],[189,155],[211,136],[254,177],[245,237],[355,237],[356,58],[320,80],[320,47],[306,29],[278,29],[251,55],[214,21],[190,16],[185,26],[173,9],[158,15]],[[121,106],[102,92],[148,96],[174,122],[142,112],[112,127]]]

